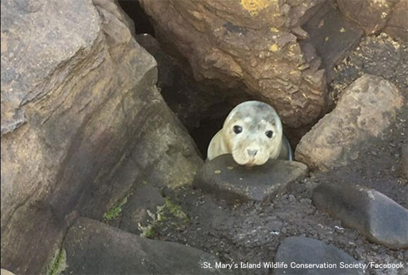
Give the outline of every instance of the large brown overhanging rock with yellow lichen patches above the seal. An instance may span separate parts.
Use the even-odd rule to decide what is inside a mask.
[[[196,80],[243,82],[290,127],[311,123],[326,103],[324,70],[310,66],[297,37],[324,1],[141,1],[156,37],[188,59]]]

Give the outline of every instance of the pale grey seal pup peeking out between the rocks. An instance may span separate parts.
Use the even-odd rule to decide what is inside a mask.
[[[235,162],[245,166],[262,165],[268,159],[292,160],[278,114],[258,101],[238,104],[225,118],[207,150],[209,160],[221,154],[233,154]]]

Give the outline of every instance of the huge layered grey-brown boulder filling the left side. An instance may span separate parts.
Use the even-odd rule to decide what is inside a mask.
[[[192,181],[156,73],[113,1],[1,1],[1,267],[44,273],[78,212]]]

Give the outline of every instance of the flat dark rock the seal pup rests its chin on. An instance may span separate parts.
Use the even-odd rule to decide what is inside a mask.
[[[202,166],[193,185],[228,202],[263,201],[285,193],[290,183],[307,173],[307,166],[297,161],[269,159],[262,166],[246,167],[223,154]]]

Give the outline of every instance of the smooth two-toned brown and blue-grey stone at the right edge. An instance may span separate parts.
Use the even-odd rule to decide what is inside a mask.
[[[314,189],[313,202],[374,243],[392,249],[408,247],[408,210],[376,190],[324,183]]]

